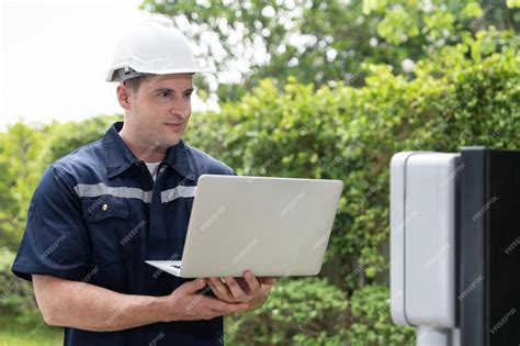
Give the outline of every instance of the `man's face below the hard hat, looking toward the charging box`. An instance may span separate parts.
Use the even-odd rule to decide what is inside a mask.
[[[129,90],[125,125],[134,139],[162,148],[179,143],[191,115],[192,92],[191,74],[151,76],[137,91]]]

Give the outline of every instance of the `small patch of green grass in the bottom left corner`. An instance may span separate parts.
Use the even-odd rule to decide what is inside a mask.
[[[0,317],[0,346],[56,346],[64,344],[63,328],[52,327],[42,321],[16,323]]]

